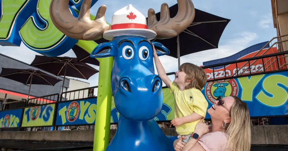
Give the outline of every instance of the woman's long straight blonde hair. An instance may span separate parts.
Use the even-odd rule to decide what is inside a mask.
[[[250,151],[251,123],[247,104],[237,96],[232,96],[235,103],[230,109],[231,122],[227,128],[227,150]]]

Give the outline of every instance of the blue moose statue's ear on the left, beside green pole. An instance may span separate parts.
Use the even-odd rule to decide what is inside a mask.
[[[92,58],[105,58],[109,56],[114,56],[114,47],[112,43],[100,43],[97,45],[92,53],[90,53],[90,57]]]

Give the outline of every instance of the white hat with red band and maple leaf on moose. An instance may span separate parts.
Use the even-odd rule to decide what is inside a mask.
[[[111,30],[105,31],[103,38],[112,40],[123,35],[142,36],[152,40],[157,34],[148,28],[146,17],[130,4],[113,14]]]

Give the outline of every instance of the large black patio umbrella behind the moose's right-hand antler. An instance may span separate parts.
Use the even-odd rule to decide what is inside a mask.
[[[178,4],[169,7],[169,11],[170,18],[175,17],[178,12]],[[156,17],[159,21],[160,12],[156,14]],[[146,20],[148,21],[148,18],[146,18]],[[195,18],[192,24],[183,32],[176,37],[169,39],[156,39],[152,41],[162,43],[167,47],[170,50],[168,56],[178,58],[179,67],[181,56],[218,48],[220,37],[229,21],[230,19],[209,14],[195,8]]]

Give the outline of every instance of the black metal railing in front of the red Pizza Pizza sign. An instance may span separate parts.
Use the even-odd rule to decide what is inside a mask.
[[[226,63],[219,63],[219,64],[215,64],[211,66],[203,66],[202,68],[213,70],[213,72],[207,73],[209,75],[208,82],[215,81],[215,80],[233,79],[233,78],[239,78],[239,77],[245,77],[245,76],[286,71],[288,69],[287,66],[285,66],[285,64],[287,64],[286,60],[280,60],[279,58],[287,54],[288,54],[288,51],[283,51],[279,53],[273,53],[273,54],[268,54],[268,55],[263,55],[263,56],[255,56],[252,58],[235,60],[235,61],[230,61]],[[269,67],[267,64],[264,64],[265,63],[264,59],[270,59],[270,58],[275,58],[273,59],[273,63],[272,63],[273,68]],[[259,64],[255,64],[255,60],[258,61]],[[253,61],[253,64],[250,63],[252,61]],[[242,68],[238,68],[240,63],[245,63],[245,62],[247,62],[249,66],[243,66]],[[232,66],[235,65],[236,68],[233,69],[233,71],[226,70],[226,68],[229,65],[232,65]],[[216,68],[216,67],[221,67],[221,66],[224,66],[224,67],[221,69]]]

